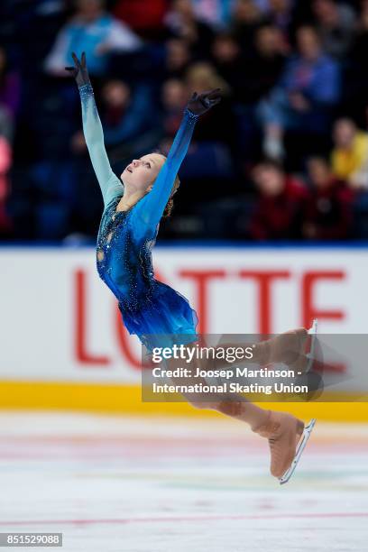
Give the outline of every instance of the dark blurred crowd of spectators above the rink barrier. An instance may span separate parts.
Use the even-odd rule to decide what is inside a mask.
[[[113,169],[197,125],[162,239],[368,238],[368,0],[2,0],[0,237],[94,240],[102,198],[71,51]]]

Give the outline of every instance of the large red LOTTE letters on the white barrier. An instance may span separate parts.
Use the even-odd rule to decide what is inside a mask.
[[[156,275],[159,280],[164,280],[161,275],[158,275],[158,272]],[[178,271],[176,276],[191,281],[193,284],[191,303],[198,312],[198,332],[201,334],[214,331],[211,327],[210,317],[214,306],[216,307],[216,293],[211,290],[211,283],[219,280],[223,285],[228,284],[229,286],[236,280],[248,280],[255,283],[254,333],[265,335],[275,331],[274,320],[277,313],[272,299],[276,292],[276,284],[280,281],[297,283],[299,292],[295,297],[297,305],[294,309],[296,308],[299,312],[297,323],[300,326],[308,327],[315,317],[318,320],[343,320],[346,316],[344,309],[338,304],[334,308],[324,308],[323,304],[320,304],[321,299],[317,300],[319,297],[317,295],[318,284],[329,284],[331,281],[343,283],[346,279],[345,271],[304,271],[300,274],[300,272],[294,273],[290,270],[186,269]],[[92,312],[91,291],[88,287],[88,279],[91,278],[90,272],[84,269],[78,269],[73,273],[73,355],[78,364],[104,369],[114,362],[113,354],[102,350],[98,351],[98,343],[92,344],[88,340],[89,325],[93,317],[97,316],[97,313]],[[336,298],[338,297],[339,294],[336,293]],[[114,302],[112,305],[110,331],[117,350],[126,363],[135,369],[140,369],[142,365],[140,350],[137,349],[132,337],[124,328],[117,305]],[[244,316],[253,315],[245,312]]]

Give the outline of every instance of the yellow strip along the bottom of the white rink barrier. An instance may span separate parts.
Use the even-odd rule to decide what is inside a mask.
[[[302,419],[368,422],[365,402],[262,402],[262,408],[291,411]],[[57,409],[90,412],[218,417],[212,410],[195,409],[186,402],[143,402],[140,386],[64,382],[0,382],[1,409]]]

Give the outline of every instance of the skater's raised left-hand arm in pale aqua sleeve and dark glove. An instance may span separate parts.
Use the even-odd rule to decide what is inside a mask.
[[[66,69],[69,70],[78,84],[82,106],[83,133],[106,207],[112,199],[123,195],[124,186],[111,169],[110,162],[108,161],[104,143],[104,132],[87,72],[86,55],[83,52],[80,61],[75,53],[72,56],[75,67],[68,67]]]

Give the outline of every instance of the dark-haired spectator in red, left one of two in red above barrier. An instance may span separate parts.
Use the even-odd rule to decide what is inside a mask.
[[[301,237],[308,190],[277,161],[262,161],[253,169],[258,191],[250,234],[254,240],[294,240]]]

